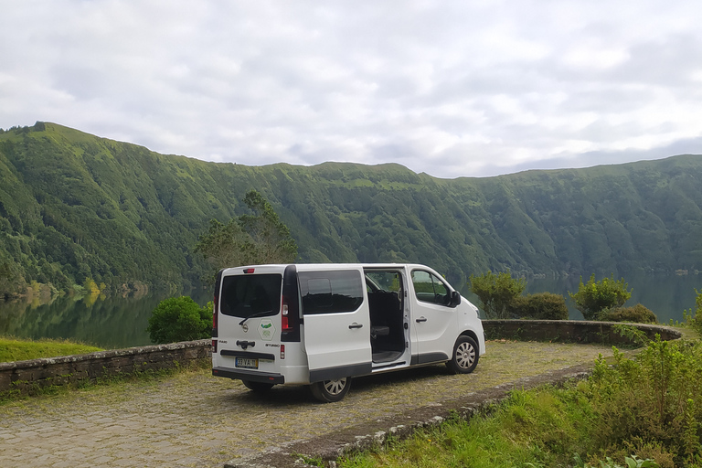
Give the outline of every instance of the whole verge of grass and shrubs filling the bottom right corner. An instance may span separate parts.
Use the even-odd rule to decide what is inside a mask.
[[[654,340],[631,359],[615,351],[612,362],[598,359],[586,381],[515,390],[478,417],[455,417],[337,465],[702,468],[702,343]]]

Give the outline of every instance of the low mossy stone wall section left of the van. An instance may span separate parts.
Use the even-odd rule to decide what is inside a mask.
[[[174,367],[207,365],[211,341],[197,340],[170,345],[138,346],[86,355],[44,357],[0,363],[0,396],[30,395],[41,388],[95,381]]]

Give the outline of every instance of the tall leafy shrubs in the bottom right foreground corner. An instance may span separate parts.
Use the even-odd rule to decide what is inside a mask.
[[[587,383],[594,447],[642,453],[655,443],[675,466],[698,466],[702,444],[702,343],[657,337],[634,359],[600,357]],[[590,449],[589,452],[594,452]],[[692,461],[693,463],[689,463]]]

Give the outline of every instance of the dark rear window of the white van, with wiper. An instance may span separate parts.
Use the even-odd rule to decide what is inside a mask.
[[[245,274],[222,279],[222,314],[247,318],[265,317],[281,310],[281,274]]]

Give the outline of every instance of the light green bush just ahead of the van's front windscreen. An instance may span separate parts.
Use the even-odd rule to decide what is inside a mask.
[[[471,291],[478,296],[487,318],[509,318],[510,304],[524,292],[527,282],[524,278],[514,280],[509,271],[470,278]]]

